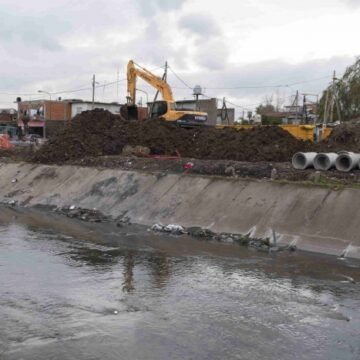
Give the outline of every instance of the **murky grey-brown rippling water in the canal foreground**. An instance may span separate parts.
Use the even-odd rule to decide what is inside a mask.
[[[348,260],[0,208],[0,359],[359,359],[359,281]]]

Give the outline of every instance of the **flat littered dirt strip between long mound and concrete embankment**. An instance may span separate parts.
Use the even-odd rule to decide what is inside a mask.
[[[1,163],[28,161],[28,151],[21,155],[19,151],[0,151]],[[124,155],[92,156],[68,160],[64,165],[96,167],[104,169],[136,170],[151,173],[208,175],[229,178],[249,178],[259,180],[279,180],[289,182],[315,183],[314,169],[296,170],[290,162],[246,162],[234,160],[202,160],[176,157],[139,157]],[[275,170],[274,170],[275,169]],[[321,184],[351,185],[360,183],[360,170],[342,173],[330,170],[321,173]]]

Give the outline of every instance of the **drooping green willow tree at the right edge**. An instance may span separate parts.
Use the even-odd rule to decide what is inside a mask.
[[[360,117],[360,57],[346,69],[341,79],[323,92],[319,110],[320,118],[327,121],[331,111],[334,120]]]

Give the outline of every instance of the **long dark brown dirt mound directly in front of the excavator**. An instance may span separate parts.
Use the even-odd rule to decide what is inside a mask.
[[[279,127],[251,130],[213,127],[183,128],[162,120],[126,121],[95,109],[77,115],[49,139],[32,161],[63,163],[85,156],[120,154],[125,145],[141,145],[152,154],[197,159],[237,161],[289,161],[297,151],[311,149]]]

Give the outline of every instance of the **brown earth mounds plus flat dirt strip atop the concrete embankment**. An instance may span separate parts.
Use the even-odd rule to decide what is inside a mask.
[[[142,146],[147,154],[126,156],[126,146]],[[354,184],[360,170],[341,173],[295,170],[291,157],[298,151],[360,152],[360,125],[338,126],[326,141],[300,141],[279,127],[252,130],[181,128],[161,120],[129,122],[95,109],[76,116],[37,150],[1,150],[0,162],[27,161],[99,168],[184,173],[285,181]],[[141,155],[141,156],[140,156]]]

